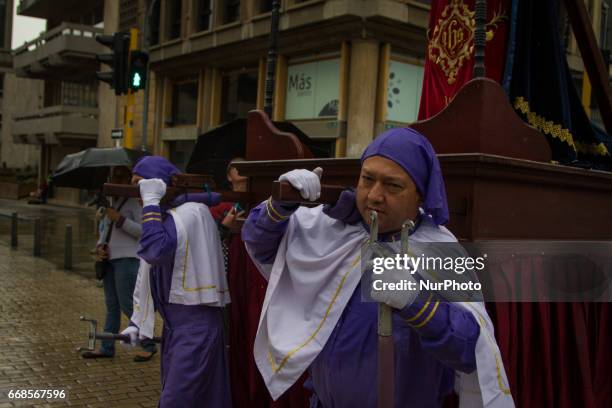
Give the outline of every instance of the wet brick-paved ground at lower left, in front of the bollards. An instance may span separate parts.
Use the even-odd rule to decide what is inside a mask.
[[[58,215],[55,225],[62,226],[63,217],[68,216],[75,217],[74,212]],[[77,215],[79,222],[80,217]],[[87,230],[85,223],[78,231],[91,233],[92,226]],[[47,238],[50,249],[58,246],[53,239],[52,235]],[[133,352],[121,347],[112,359],[83,360],[76,352],[78,346],[86,345],[88,333],[79,316],[104,320],[104,295],[95,280],[65,272],[0,242],[0,282],[0,394],[11,389],[64,390],[67,394],[61,401],[0,399],[0,408],[157,405],[159,354],[149,362],[135,363]],[[126,324],[123,317],[122,327]]]

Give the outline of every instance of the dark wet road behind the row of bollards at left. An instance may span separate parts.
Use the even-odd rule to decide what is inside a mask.
[[[92,208],[72,208],[57,205],[29,205],[23,200],[0,199],[0,243],[10,243],[11,214],[16,212],[18,223],[18,250],[33,253],[34,219],[41,220],[41,256],[56,267],[64,267],[66,225],[72,225],[73,272],[94,277],[94,258],[91,251],[96,245],[97,231]]]

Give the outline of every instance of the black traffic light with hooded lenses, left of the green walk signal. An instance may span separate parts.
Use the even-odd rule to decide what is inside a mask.
[[[109,47],[113,52],[97,54],[96,59],[109,65],[112,70],[96,72],[96,77],[115,90],[115,95],[127,93],[128,59],[130,54],[130,34],[118,32],[111,35],[97,35],[96,41]]]

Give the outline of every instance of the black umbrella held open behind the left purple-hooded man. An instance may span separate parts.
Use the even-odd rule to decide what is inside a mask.
[[[55,186],[94,190],[107,181],[111,167],[133,167],[147,155],[124,147],[86,149],[64,157],[51,178]]]

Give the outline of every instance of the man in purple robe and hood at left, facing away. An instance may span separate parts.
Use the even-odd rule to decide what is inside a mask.
[[[132,179],[143,201],[138,255],[150,265],[150,293],[164,321],[159,406],[230,407],[222,308],[229,298],[216,226],[202,204],[214,205],[211,198],[218,203],[219,197],[189,194],[160,205],[177,173],[165,158],[149,156],[136,164]],[[142,328],[139,333],[134,320],[124,332],[136,340]]]

